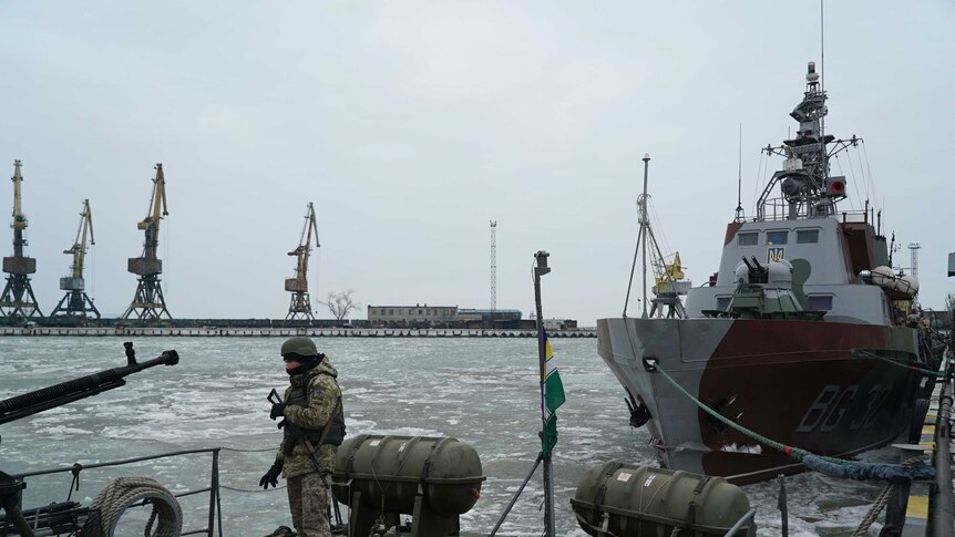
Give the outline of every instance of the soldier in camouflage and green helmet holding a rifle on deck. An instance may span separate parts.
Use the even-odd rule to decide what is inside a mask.
[[[288,481],[291,523],[298,536],[328,537],[329,479],[345,438],[338,371],[309,338],[288,339],[281,345],[281,358],[291,385],[269,415],[284,417],[279,427],[284,426],[285,435],[275,464],[259,486],[276,486],[281,474]]]

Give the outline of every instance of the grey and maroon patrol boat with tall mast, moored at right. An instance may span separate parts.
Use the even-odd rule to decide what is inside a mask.
[[[917,282],[889,268],[874,209],[839,207],[846,179],[830,175],[830,161],[862,140],[823,132],[825,100],[809,63],[790,114],[797,136],[763,148],[784,157],[782,169],[754,218],[738,207],[719,272],[689,291],[685,318],[597,321],[598,352],[629,395],[630,422],[646,423],[669,468],[735,483],[803,469],[728,422],[839,457],[892,442],[913,420],[921,428],[926,403],[916,402],[932,383],[910,366],[936,370],[941,353],[898,314]]]

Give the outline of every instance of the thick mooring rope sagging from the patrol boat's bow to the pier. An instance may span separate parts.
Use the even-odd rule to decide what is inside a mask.
[[[749,428],[743,427],[742,425],[726,417],[719,412],[710,409],[702,401],[692,396],[690,392],[686,391],[684,386],[681,386],[676,380],[674,380],[672,376],[669,375],[669,373],[667,373],[666,371],[664,371],[663,368],[660,368],[660,364],[656,359],[649,357],[645,358],[644,365],[649,372],[659,372],[664,376],[664,379],[667,380],[667,382],[669,382],[670,384],[672,384],[674,388],[677,389],[677,391],[682,393],[690,401],[692,401],[694,404],[699,406],[704,412],[713,416],[726,426],[802,462],[810,469],[822,472],[826,475],[832,475],[834,477],[848,477],[858,481],[884,479],[891,481],[893,483],[904,483],[912,479],[931,479],[935,477],[935,467],[931,465],[922,464],[918,466],[910,467],[898,464],[871,464],[860,463],[855,461],[844,461],[841,458],[828,457],[824,455],[815,455],[809,451],[785,445],[781,442],[768,438],[754,431],[750,431]]]

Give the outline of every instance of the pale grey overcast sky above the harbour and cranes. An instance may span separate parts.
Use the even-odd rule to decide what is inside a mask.
[[[852,204],[884,208],[897,265],[922,245],[936,309],[955,289],[953,6],[825,7],[826,131],[865,140],[875,184],[845,166]],[[314,202],[314,301],[487,308],[494,219],[497,307],[528,314],[544,249],[545,317],[593,326],[623,310],[643,154],[657,233],[702,283],[737,205],[739,124],[751,214],[781,167],[759,148],[795,131],[820,62],[815,2],[7,1],[0,20],[0,173],[23,161],[44,313],[84,198],[88,290],[106,314],[129,306],[162,162],[174,317],[284,318]]]

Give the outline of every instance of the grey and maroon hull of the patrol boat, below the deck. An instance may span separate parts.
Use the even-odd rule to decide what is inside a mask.
[[[904,327],[771,319],[602,319],[598,351],[649,411],[674,469],[752,483],[800,472],[798,461],[699,409],[659,372],[726,420],[829,456],[880,447],[907,431],[921,375]],[[884,358],[872,358],[879,354]],[[890,363],[890,360],[897,363]]]

